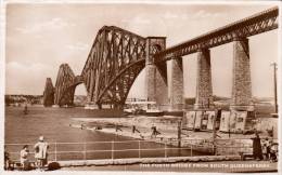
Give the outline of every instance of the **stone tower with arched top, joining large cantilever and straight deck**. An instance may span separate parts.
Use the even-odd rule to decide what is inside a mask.
[[[156,102],[158,107],[168,104],[167,86],[167,65],[154,63],[153,55],[166,49],[165,37],[146,38],[146,58],[145,58],[145,86],[148,100]]]

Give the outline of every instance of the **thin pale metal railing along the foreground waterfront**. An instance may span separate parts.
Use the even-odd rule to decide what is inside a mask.
[[[177,147],[181,142],[181,147]],[[88,143],[49,143],[48,160],[95,160],[95,159],[126,159],[126,158],[168,158],[194,157],[207,154],[239,154],[252,152],[253,142],[249,138],[236,139],[167,139],[162,143],[155,140],[112,140]],[[5,144],[5,151],[11,160],[20,160],[20,151],[24,145],[34,149],[35,144]],[[29,152],[29,160],[33,161]]]

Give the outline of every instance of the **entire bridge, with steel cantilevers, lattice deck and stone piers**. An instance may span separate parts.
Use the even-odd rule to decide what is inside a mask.
[[[210,49],[233,42],[232,103],[235,110],[253,110],[248,38],[278,28],[278,6],[166,48],[166,37],[141,37],[116,26],[99,31],[79,76],[67,64],[59,69],[55,86],[47,79],[43,104],[73,105],[75,88],[84,83],[89,104],[99,108],[111,105],[123,108],[136,78],[145,68],[149,100],[159,106],[170,104],[171,110],[183,108],[182,57],[197,53],[195,109],[214,107]],[[166,62],[172,59],[171,81],[167,79]],[[168,98],[170,83],[170,99]]]

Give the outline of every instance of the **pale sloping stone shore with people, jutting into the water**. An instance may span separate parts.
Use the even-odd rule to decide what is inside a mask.
[[[130,137],[133,139],[151,140],[179,146],[178,120],[179,117],[125,117],[125,118],[73,118],[70,126],[103,132]],[[132,132],[133,126],[138,132]],[[158,135],[152,136],[152,126],[155,126]],[[228,134],[217,132],[217,139],[213,139],[213,131],[194,132],[181,130],[180,146],[192,148],[196,151],[216,154],[239,154],[252,152],[252,137],[254,135]]]

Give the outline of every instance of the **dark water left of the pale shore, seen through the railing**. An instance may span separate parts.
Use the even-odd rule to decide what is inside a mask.
[[[37,143],[38,137],[43,135],[48,143],[86,143],[86,142],[112,142],[112,140],[132,140],[132,138],[117,136],[114,134],[105,134],[101,132],[92,132],[88,130],[79,130],[70,127],[72,118],[101,118],[110,116],[111,111],[105,110],[85,110],[82,108],[43,108],[29,107],[28,115],[24,115],[21,107],[5,108],[5,144],[31,144],[29,150]],[[113,113],[113,112],[112,112]],[[7,146],[10,152],[20,152],[21,146]],[[111,159],[114,158],[137,158],[141,157],[164,157],[167,156],[189,156],[190,150],[138,150],[116,151],[112,154],[113,149],[138,149],[137,140],[130,143],[97,143],[97,144],[51,144],[50,152],[54,151],[81,151],[81,152],[61,152],[56,156],[56,160],[72,159]],[[89,151],[82,152],[85,148]],[[141,143],[140,148],[155,149],[164,148],[164,145],[155,143]],[[94,150],[94,151],[90,151]],[[100,151],[98,151],[100,150]],[[108,151],[102,151],[108,150]],[[193,154],[200,154],[193,151]],[[12,159],[18,159],[18,153],[11,153]],[[54,160],[55,156],[50,153],[50,159]],[[33,158],[31,158],[33,159]]]

